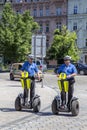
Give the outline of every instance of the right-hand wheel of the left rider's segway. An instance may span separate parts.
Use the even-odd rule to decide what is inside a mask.
[[[33,111],[34,112],[39,112],[41,108],[41,101],[40,98],[35,98],[33,101]]]

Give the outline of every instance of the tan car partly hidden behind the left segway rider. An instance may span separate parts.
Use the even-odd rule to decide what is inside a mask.
[[[10,80],[14,80],[15,78],[20,78],[21,77],[21,68],[22,68],[23,63],[14,63],[11,66],[10,69]],[[39,75],[40,75],[40,81],[42,81],[42,72],[39,70]],[[37,75],[35,74],[35,78],[38,79]]]

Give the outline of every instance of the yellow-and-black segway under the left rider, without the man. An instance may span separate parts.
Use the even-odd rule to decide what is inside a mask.
[[[39,112],[41,107],[40,96],[35,95],[32,102],[29,101],[29,89],[32,84],[32,80],[29,78],[28,72],[22,72],[20,78],[24,92],[20,93],[15,100],[15,110],[21,111],[24,109],[33,109],[34,112]]]

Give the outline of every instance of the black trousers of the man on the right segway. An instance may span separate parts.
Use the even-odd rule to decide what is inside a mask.
[[[69,89],[68,89],[68,102],[66,102],[66,93],[64,91],[61,92],[61,100],[62,100],[62,105],[69,105],[70,100],[73,97],[73,92],[74,92],[74,82],[69,81]]]

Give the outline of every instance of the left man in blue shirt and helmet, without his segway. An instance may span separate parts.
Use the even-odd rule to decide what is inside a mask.
[[[40,80],[40,76],[38,73],[37,65],[33,62],[33,56],[28,55],[28,61],[25,61],[21,71],[26,71],[29,73],[29,78],[32,80],[30,87],[30,106],[32,108],[32,100],[35,96],[35,73],[37,73],[38,79]],[[24,89],[24,99],[28,99],[28,90]],[[26,101],[25,101],[26,102]]]

